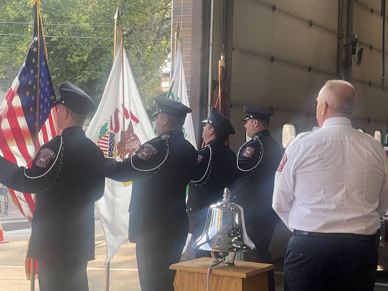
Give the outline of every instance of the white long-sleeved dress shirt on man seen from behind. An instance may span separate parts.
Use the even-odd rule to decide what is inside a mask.
[[[287,147],[272,206],[291,230],[375,233],[388,208],[383,146],[346,117],[326,119]]]

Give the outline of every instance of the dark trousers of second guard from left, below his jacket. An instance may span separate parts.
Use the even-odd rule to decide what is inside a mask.
[[[179,236],[170,233],[136,240],[142,291],[174,291],[175,271],[169,270],[169,267],[179,262],[186,239],[187,230]]]

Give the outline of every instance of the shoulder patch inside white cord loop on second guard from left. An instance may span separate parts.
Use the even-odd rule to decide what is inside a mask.
[[[131,156],[131,165],[139,171],[153,171],[166,161],[169,153],[168,136],[147,141]]]

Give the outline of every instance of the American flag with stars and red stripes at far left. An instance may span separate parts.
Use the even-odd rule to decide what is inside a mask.
[[[0,106],[0,154],[18,166],[31,163],[39,147],[59,134],[43,26],[37,3],[34,4],[33,40],[26,61]],[[39,132],[37,140],[36,132]],[[10,190],[10,193],[20,212],[31,224],[35,195],[14,190]]]

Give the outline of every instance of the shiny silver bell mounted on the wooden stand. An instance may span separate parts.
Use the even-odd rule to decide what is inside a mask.
[[[249,252],[255,249],[255,244],[249,239],[245,230],[244,212],[240,205],[230,202],[230,191],[224,190],[224,199],[211,205],[206,219],[205,229],[194,242],[194,248],[203,251]]]

